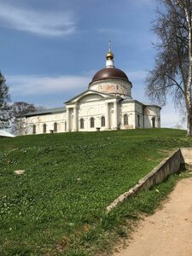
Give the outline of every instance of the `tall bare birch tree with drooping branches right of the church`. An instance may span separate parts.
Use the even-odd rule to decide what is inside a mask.
[[[161,105],[171,95],[185,108],[187,136],[192,136],[192,0],[159,0],[153,30],[160,41],[154,69],[148,73],[146,92]]]

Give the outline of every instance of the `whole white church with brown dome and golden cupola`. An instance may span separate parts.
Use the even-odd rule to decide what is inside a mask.
[[[127,75],[114,67],[109,46],[106,67],[93,76],[88,90],[68,100],[62,108],[20,116],[20,135],[160,127],[161,108],[134,100],[131,89]]]

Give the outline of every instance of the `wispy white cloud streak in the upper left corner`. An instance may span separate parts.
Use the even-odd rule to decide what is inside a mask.
[[[43,36],[66,36],[75,32],[73,15],[69,12],[40,12],[0,3],[0,26]]]

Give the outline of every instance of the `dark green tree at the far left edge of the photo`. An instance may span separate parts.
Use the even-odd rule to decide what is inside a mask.
[[[0,129],[9,127],[9,87],[0,72]]]

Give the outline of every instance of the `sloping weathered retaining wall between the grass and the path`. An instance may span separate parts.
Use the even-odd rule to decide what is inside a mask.
[[[192,148],[178,148],[165,160],[162,160],[158,166],[149,172],[146,176],[141,178],[137,185],[132,187],[129,191],[119,195],[107,208],[107,212],[111,211],[120,202],[125,201],[131,195],[137,194],[142,190],[147,190],[151,186],[161,183],[170,174],[179,172],[181,164],[192,164]]]

